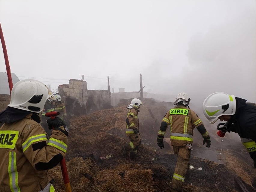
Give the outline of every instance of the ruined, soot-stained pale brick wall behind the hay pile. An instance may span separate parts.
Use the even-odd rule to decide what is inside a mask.
[[[69,84],[59,85],[59,95],[68,116],[88,115],[111,107],[109,90],[87,90],[83,80],[70,79]]]

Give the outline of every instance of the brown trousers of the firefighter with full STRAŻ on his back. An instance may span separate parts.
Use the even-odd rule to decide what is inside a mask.
[[[172,187],[181,188],[189,166],[191,151],[187,147],[172,146],[173,152],[178,155],[177,163],[172,177]]]

